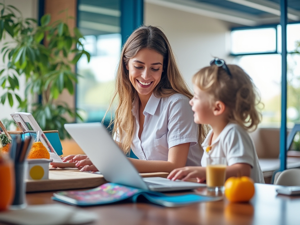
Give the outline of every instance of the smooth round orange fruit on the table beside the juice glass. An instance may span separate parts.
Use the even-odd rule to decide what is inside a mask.
[[[248,202],[254,195],[254,182],[250,177],[229,177],[225,182],[225,196],[230,202]]]

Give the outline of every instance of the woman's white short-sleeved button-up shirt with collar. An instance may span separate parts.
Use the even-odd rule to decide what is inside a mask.
[[[203,150],[198,142],[198,126],[194,123],[189,98],[174,94],[157,98],[152,93],[145,107],[143,132],[139,138],[139,99],[133,103],[135,117],[131,149],[142,160],[168,160],[169,149],[190,143],[187,166],[201,165]]]

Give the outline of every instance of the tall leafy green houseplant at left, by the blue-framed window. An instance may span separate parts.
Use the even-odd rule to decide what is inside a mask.
[[[77,28],[71,34],[67,20],[73,18],[65,13],[66,22],[50,23],[51,17],[46,14],[38,25],[36,19],[23,18],[16,7],[0,3],[0,41],[5,36],[12,38],[1,49],[6,67],[0,68],[0,85],[4,91],[0,104],[5,101],[10,106],[18,104],[18,110],[32,113],[43,130],[58,130],[61,139],[67,135],[63,127],[66,116],[81,118],[78,109],[58,101],[58,97],[64,90],[74,94],[77,74],[72,70],[73,65],[82,55],[90,59],[80,41],[82,34]],[[26,80],[24,99],[16,92],[21,76]]]

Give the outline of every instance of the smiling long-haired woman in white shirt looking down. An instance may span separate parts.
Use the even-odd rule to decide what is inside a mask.
[[[167,37],[157,27],[141,26],[123,46],[116,75],[118,97],[113,136],[140,173],[170,172],[200,165],[208,129],[193,122],[193,97],[175,61]],[[96,170],[85,155],[70,155],[82,171]]]

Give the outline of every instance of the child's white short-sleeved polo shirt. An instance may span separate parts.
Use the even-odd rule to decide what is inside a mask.
[[[203,167],[206,167],[206,159],[209,155],[211,157],[226,157],[228,166],[236,163],[249,164],[251,166],[250,177],[254,182],[265,183],[253,140],[244,128],[238,124],[227,124],[217,139],[211,143],[211,150],[207,153],[205,149],[209,146],[212,134],[213,130],[210,130],[202,143],[204,153],[201,165]]]

